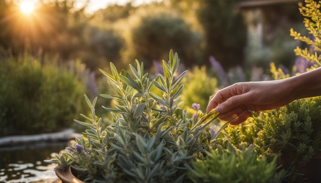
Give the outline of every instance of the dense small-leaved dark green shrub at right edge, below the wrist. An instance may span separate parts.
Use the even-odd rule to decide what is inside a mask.
[[[290,167],[309,162],[321,148],[321,97],[296,100],[265,114],[255,143],[272,154],[294,152]]]

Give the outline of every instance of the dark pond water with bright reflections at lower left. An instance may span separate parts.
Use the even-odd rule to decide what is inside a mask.
[[[57,179],[50,159],[68,142],[35,142],[32,145],[0,147],[0,182],[48,182]]]

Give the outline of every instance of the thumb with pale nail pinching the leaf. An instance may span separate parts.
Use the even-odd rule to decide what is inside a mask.
[[[239,105],[247,104],[248,97],[249,97],[248,94],[232,96],[228,98],[225,102],[217,106],[215,108],[215,111],[220,113],[229,112],[230,110],[234,109]]]

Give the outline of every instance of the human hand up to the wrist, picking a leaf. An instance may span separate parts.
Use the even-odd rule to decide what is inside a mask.
[[[215,108],[219,118],[238,125],[251,117],[251,111],[265,111],[282,107],[296,100],[291,83],[287,79],[275,81],[236,83],[218,91],[207,106],[207,112]]]

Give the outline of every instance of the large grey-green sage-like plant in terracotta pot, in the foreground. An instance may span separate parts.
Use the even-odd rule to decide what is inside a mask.
[[[143,63],[136,62],[136,68],[130,65],[132,74],[118,72],[112,63],[112,74],[100,70],[117,94],[101,95],[114,101],[115,108],[102,106],[113,123],[102,129],[95,114],[97,97],[91,102],[85,95],[91,116],[81,116],[90,122],[75,121],[88,129],[67,147],[69,153],[47,161],[58,163],[56,174],[63,181],[79,181],[70,175],[71,166],[84,182],[183,182],[193,154],[208,147],[211,136],[203,131],[217,113],[188,118],[185,110],[178,110],[180,82],[187,71],[176,75],[177,53],[170,51],[169,61],[163,61],[164,75],[153,80],[143,72]],[[152,93],[152,87],[161,95]]]

